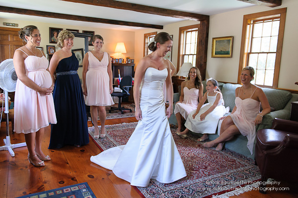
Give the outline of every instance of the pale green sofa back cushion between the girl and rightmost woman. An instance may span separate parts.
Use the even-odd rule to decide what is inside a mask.
[[[234,106],[235,106],[235,90],[237,87],[240,87],[240,84],[231,84],[226,83],[223,85],[222,93],[224,98],[224,106],[230,108],[230,112],[232,112]]]

